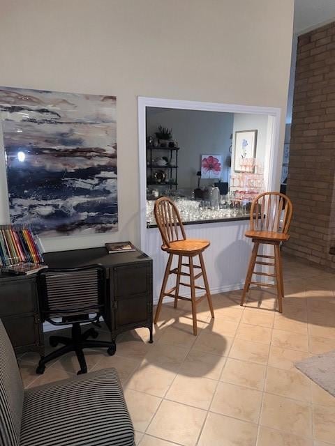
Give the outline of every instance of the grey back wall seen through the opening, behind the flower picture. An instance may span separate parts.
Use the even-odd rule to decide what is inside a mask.
[[[155,109],[156,111],[156,109]],[[232,113],[200,112],[195,110],[163,109],[147,112],[147,132],[154,134],[158,125],[172,128],[173,139],[178,141],[178,187],[193,190],[198,186],[197,171],[201,167],[201,155],[221,155],[221,180],[228,181],[228,149],[231,144]],[[213,180],[200,180],[200,186]]]

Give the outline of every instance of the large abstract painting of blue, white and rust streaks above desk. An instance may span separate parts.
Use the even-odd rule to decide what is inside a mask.
[[[12,223],[40,236],[116,231],[114,96],[0,87]]]

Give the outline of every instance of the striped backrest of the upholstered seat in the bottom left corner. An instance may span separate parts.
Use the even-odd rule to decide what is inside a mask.
[[[10,339],[0,320],[0,445],[20,444],[24,388]]]

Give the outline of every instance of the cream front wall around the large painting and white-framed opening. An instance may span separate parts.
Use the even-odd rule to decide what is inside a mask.
[[[43,240],[47,250],[139,242],[138,95],[281,107],[282,158],[293,0],[0,0],[0,10],[0,85],[117,96],[119,232]],[[281,160],[278,184],[280,173]]]

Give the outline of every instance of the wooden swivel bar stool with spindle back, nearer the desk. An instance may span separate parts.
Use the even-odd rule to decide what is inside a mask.
[[[192,305],[193,316],[193,334],[197,335],[197,311],[196,305],[207,297],[209,309],[211,310],[211,317],[214,318],[214,309],[211,303],[211,293],[209,291],[209,285],[207,280],[206,269],[204,267],[204,259],[202,252],[209,247],[209,240],[201,240],[199,238],[186,238],[183,223],[179,211],[172,200],[161,197],[156,200],[154,206],[154,213],[159,231],[161,232],[163,245],[162,250],[168,252],[169,258],[165,268],[165,274],[163,277],[163,284],[161,288],[161,294],[159,295],[158,307],[156,309],[155,323],[158,321],[159,314],[163,303],[163,298],[169,296],[174,298],[174,308],[177,308],[178,299],[190,300]],[[173,256],[178,256],[177,268],[171,269]],[[195,256],[199,256],[200,265],[195,265],[193,259]],[[183,257],[186,257],[188,261],[183,263]],[[188,272],[183,272],[182,267],[188,268]],[[198,274],[194,273],[194,270],[200,270]],[[172,289],[166,290],[166,284],[168,283],[168,277],[170,274],[176,275],[176,284]],[[189,277],[190,282],[181,282],[182,277]],[[195,280],[202,277],[204,286],[195,285]],[[188,286],[191,288],[191,298],[185,298],[179,295],[179,287]],[[204,295],[195,299],[195,291],[204,290]]]

